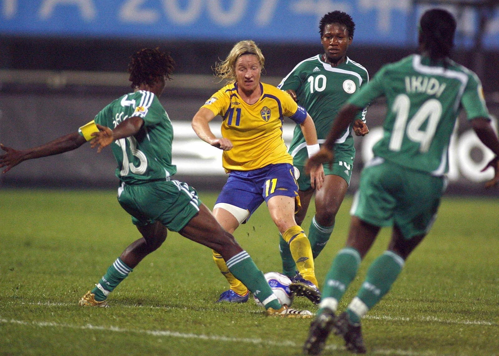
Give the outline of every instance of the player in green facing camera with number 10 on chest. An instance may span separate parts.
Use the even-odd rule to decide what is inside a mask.
[[[369,80],[367,70],[347,57],[352,43],[355,23],[349,14],[342,11],[326,13],[319,22],[319,33],[324,53],[305,59],[277,86],[286,90],[312,116],[317,129],[318,142],[325,141],[336,114],[348,98]],[[353,123],[356,135],[368,132],[365,110],[359,112]],[[334,228],[336,213],[345,198],[353,170],[355,148],[349,127],[342,132],[334,144],[334,162],[324,166],[324,185],[313,186],[313,179],[304,170],[308,152],[301,130],[296,127],[289,153],[293,165],[299,170],[298,194],[301,210],[296,214],[300,225],[307,213],[308,204],[315,192],[315,215],[308,230],[308,240],[315,259],[326,245]],[[318,149],[318,148],[317,148]],[[279,238],[282,271],[288,277],[295,274],[296,266],[289,247]]]

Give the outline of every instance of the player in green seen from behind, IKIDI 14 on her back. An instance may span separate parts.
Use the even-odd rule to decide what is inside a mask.
[[[348,240],[326,277],[320,309],[304,345],[308,355],[322,351],[332,328],[343,336],[348,350],[366,352],[360,319],[390,290],[405,260],[435,221],[445,190],[449,142],[461,106],[480,140],[496,154],[486,166],[494,167],[495,178],[486,186],[499,180],[499,141],[480,79],[448,57],[455,30],[456,20],[446,10],[426,11],[419,27],[421,55],[381,68],[348,100],[319,153],[307,163],[307,168],[314,169],[333,161],[334,141],[355,115],[375,98],[386,97],[384,136],[373,148],[374,159],[362,170]],[[393,226],[388,250],[374,260],[357,296],[335,318],[338,302],[384,226]]]

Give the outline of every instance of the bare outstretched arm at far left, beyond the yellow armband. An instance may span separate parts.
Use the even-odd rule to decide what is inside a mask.
[[[78,132],[73,132],[47,142],[44,145],[28,148],[26,150],[15,150],[0,144],[1,149],[5,151],[3,155],[0,155],[0,167],[6,167],[2,172],[6,173],[22,161],[72,151],[85,142],[86,140],[83,136]]]

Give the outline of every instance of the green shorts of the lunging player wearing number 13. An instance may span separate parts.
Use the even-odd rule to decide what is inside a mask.
[[[171,231],[180,231],[199,212],[201,200],[187,183],[152,181],[125,184],[118,189],[118,202],[137,226],[161,222]]]

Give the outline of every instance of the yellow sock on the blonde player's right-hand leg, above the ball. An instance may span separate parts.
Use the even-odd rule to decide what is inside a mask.
[[[310,241],[308,241],[303,229],[298,225],[290,227],[282,234],[282,238],[289,245],[289,250],[296,263],[298,272],[304,279],[312,282],[318,287],[319,284],[315,278],[312,248],[310,247]]]

